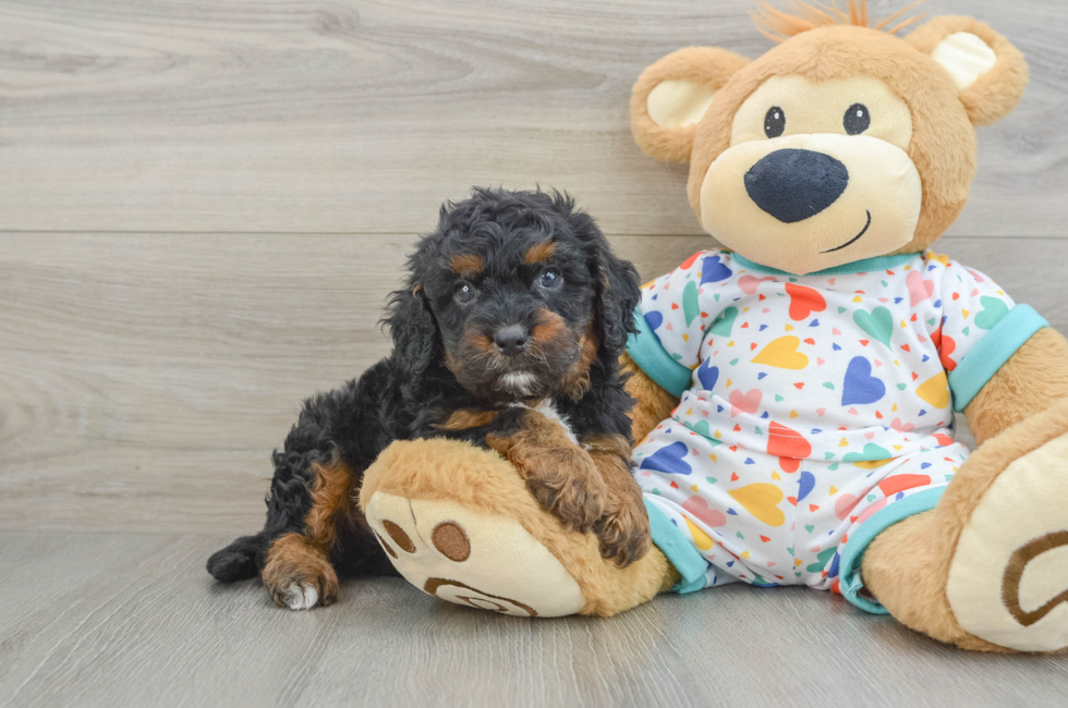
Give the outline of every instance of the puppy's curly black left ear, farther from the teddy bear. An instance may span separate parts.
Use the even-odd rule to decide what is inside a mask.
[[[421,279],[428,260],[430,240],[427,236],[409,258],[409,280],[403,290],[390,294],[388,315],[383,322],[389,326],[393,339],[392,359],[410,378],[421,376],[437,356],[437,321],[423,292]]]

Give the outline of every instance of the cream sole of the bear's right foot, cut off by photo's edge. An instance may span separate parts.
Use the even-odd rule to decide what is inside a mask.
[[[960,626],[987,642],[1068,646],[1068,435],[994,480],[961,532],[946,595]]]

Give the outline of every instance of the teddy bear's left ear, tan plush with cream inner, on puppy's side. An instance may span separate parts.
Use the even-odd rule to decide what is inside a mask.
[[[716,91],[747,63],[726,49],[688,47],[643,71],[630,99],[631,129],[642,151],[658,160],[689,161],[696,124]]]

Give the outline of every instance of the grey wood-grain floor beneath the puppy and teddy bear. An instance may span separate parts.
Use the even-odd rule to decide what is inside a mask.
[[[378,579],[292,612],[210,581],[222,542],[0,535],[0,567],[21,571],[0,574],[0,706],[1052,708],[1068,692],[1068,657],[949,650],[804,588],[522,620]]]

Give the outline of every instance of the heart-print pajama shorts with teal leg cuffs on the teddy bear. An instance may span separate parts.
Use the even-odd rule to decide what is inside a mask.
[[[767,450],[789,452],[797,431],[729,420],[717,430],[718,407],[711,392],[687,391],[634,450],[654,541],[683,577],[676,589],[806,585],[882,612],[860,591],[851,544],[862,552],[887,526],[933,509],[968,449],[949,429],[805,430],[808,456],[777,456]],[[780,442],[769,448],[770,437]]]

